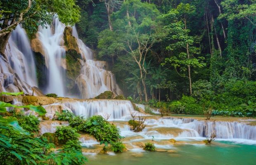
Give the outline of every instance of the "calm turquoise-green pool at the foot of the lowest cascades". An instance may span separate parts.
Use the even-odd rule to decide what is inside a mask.
[[[88,165],[256,165],[256,146],[232,143],[179,145],[175,152],[87,156]]]

